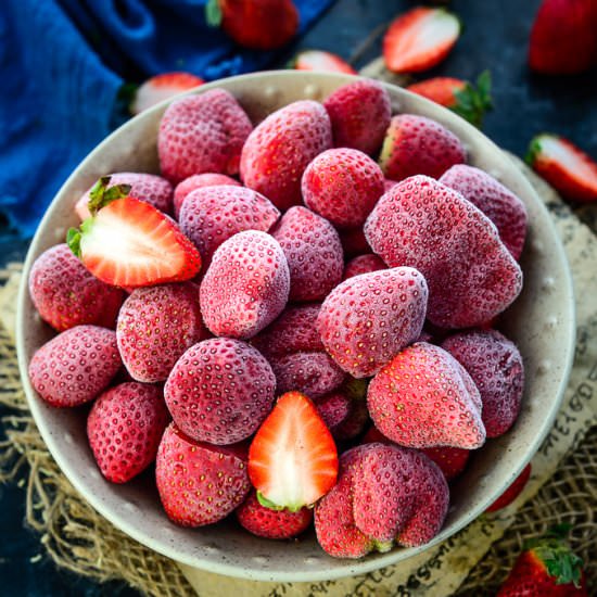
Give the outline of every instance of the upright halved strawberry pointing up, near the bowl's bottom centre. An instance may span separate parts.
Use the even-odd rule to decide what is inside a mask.
[[[249,478],[263,506],[295,512],[335,484],[338,450],[315,405],[301,392],[276,403],[249,448]]]

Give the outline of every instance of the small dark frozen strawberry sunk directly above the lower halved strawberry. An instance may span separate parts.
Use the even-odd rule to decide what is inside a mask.
[[[346,374],[326,353],[292,353],[269,357],[278,394],[302,392],[315,399],[340,388]]]

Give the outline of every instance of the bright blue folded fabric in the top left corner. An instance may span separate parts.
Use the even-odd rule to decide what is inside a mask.
[[[303,33],[332,0],[295,0]],[[117,124],[125,78],[187,71],[206,80],[268,67],[207,27],[206,0],[4,0],[0,11],[0,212],[23,237]]]

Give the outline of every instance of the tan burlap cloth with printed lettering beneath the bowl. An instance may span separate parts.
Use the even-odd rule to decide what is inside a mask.
[[[136,543],[100,517],[73,488],[46,449],[27,409],[12,331],[20,265],[0,272],[0,402],[9,406],[0,444],[0,480],[25,490],[28,525],[40,555],[100,582],[124,580],[147,595],[492,595],[522,542],[557,522],[573,525],[571,542],[597,587],[597,228],[596,208],[581,219],[524,169],[554,215],[573,270],[577,296],[576,358],[563,407],[533,460],[523,494],[506,510],[481,517],[441,546],[364,576],[314,584],[253,583],[179,567]],[[589,226],[593,225],[593,230]],[[33,561],[40,555],[31,554]],[[194,587],[194,588],[193,588]],[[597,589],[597,588],[596,588]],[[594,590],[596,590],[594,589]]]

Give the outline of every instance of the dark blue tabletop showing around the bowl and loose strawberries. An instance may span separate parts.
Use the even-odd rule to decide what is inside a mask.
[[[271,66],[283,66],[302,48],[326,49],[347,59],[370,31],[416,4],[407,0],[338,0]],[[552,131],[597,157],[596,72],[575,77],[539,77],[526,67],[529,31],[539,0],[454,0],[450,4],[461,17],[465,31],[448,59],[425,76],[473,79],[490,68],[495,111],[486,117],[484,131],[496,143],[522,156],[535,134]],[[380,48],[381,37],[356,66],[379,55]],[[0,221],[0,265],[24,258],[26,249],[27,242]],[[40,562],[30,563],[29,558],[43,554],[43,548],[39,537],[24,526],[23,500],[23,490],[0,486],[0,595],[138,595],[119,583],[98,585],[59,571],[46,556]]]

